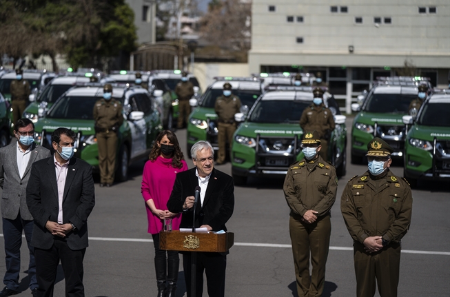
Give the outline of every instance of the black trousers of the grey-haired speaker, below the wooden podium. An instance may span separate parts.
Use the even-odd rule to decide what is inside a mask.
[[[209,297],[225,296],[225,269],[227,256],[219,253],[196,252],[196,297],[203,296],[203,271]],[[183,252],[183,269],[185,273],[187,297],[191,296],[191,253]]]

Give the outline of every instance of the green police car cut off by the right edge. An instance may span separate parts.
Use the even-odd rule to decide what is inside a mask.
[[[431,95],[407,125],[403,176],[415,186],[419,179],[450,181],[450,90]]]

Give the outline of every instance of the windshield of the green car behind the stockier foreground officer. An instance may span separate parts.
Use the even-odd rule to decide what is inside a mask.
[[[365,105],[366,112],[384,114],[408,114],[409,103],[415,94],[372,94]]]

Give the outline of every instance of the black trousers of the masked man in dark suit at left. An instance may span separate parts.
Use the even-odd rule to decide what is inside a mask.
[[[83,258],[86,249],[72,250],[64,238],[56,238],[50,249],[34,248],[36,276],[41,297],[52,297],[59,260],[63,267],[66,297],[84,297]]]

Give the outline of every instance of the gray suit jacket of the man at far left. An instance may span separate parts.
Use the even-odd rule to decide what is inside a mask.
[[[17,143],[13,141],[10,145],[0,148],[0,187],[1,193],[1,216],[14,220],[17,214],[23,220],[32,221],[33,217],[28,210],[26,201],[26,188],[30,178],[32,163],[51,156],[50,150],[40,145],[32,144],[30,161],[20,178],[17,166]]]

